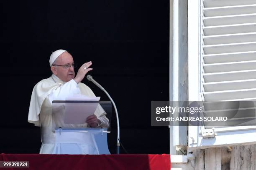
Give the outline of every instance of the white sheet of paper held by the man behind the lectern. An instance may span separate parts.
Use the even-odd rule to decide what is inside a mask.
[[[90,97],[86,95],[73,95],[66,98],[72,101],[99,101],[100,97]],[[88,116],[93,115],[98,103],[66,103],[64,123],[84,124]]]

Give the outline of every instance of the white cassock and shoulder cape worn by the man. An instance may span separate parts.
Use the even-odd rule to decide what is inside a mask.
[[[52,101],[65,100],[74,94],[95,96],[85,84],[77,84],[73,79],[63,82],[56,75],[41,80],[33,88],[28,112],[28,122],[42,126],[41,154],[99,154],[94,137],[89,133],[69,132],[56,135],[52,130]],[[97,107],[95,111],[98,127],[108,128],[106,112]],[[54,120],[56,122],[58,120]],[[87,123],[74,125],[74,128],[87,127]]]

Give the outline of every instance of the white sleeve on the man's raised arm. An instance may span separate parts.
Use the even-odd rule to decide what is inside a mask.
[[[64,85],[59,86],[56,90],[52,91],[49,95],[49,100],[52,104],[53,100],[66,100],[66,97],[74,94],[80,94],[80,89],[73,79],[66,82]]]

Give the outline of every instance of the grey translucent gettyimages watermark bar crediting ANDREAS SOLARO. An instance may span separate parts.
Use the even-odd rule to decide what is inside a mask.
[[[256,125],[256,101],[151,101],[151,125]]]

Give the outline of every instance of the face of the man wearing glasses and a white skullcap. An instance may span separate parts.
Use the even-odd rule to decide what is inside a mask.
[[[59,77],[64,82],[68,82],[69,80],[72,80],[75,76],[74,68],[72,67],[72,63],[74,63],[72,55],[70,55],[68,52],[63,52],[55,61],[54,64],[56,66],[53,68],[52,72]],[[57,65],[66,65],[70,64],[71,66],[68,68],[64,68],[63,66],[57,66]]]

